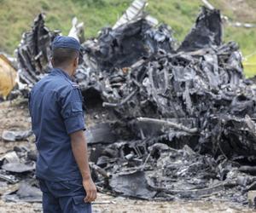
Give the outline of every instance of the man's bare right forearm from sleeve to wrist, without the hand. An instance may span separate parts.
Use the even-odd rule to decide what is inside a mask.
[[[85,141],[84,131],[80,130],[71,135],[71,146],[73,156],[79,166],[83,179],[90,179],[87,143]]]

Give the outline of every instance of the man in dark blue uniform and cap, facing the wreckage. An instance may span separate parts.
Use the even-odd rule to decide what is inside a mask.
[[[80,44],[73,37],[55,37],[52,50],[53,69],[35,84],[29,100],[43,210],[91,212],[96,186],[84,138],[83,97],[72,81],[79,65]]]

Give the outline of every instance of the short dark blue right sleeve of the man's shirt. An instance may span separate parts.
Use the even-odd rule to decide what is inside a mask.
[[[78,88],[69,89],[61,98],[61,116],[64,119],[67,134],[85,130],[83,101]]]

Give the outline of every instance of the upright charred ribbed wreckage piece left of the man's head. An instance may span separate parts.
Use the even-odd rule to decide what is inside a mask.
[[[50,32],[44,26],[44,14],[34,20],[32,32],[22,35],[17,49],[19,77],[21,83],[35,83],[49,71],[50,43],[59,31]]]

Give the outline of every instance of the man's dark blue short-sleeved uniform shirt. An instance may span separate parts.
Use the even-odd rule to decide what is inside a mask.
[[[70,134],[85,130],[83,97],[67,72],[53,69],[33,87],[29,110],[36,135],[36,176],[48,181],[80,179]]]

